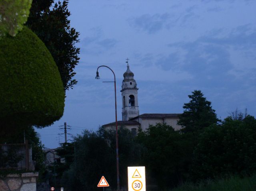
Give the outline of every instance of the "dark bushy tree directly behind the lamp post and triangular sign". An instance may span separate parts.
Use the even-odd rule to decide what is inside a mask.
[[[96,185],[102,175],[111,189],[116,188],[116,139],[115,129],[100,127],[97,132],[84,131],[74,139],[75,160],[62,175],[62,185],[70,190],[98,190]],[[142,165],[140,144],[134,142],[130,130],[120,127],[119,167],[120,186],[127,185],[127,166]]]

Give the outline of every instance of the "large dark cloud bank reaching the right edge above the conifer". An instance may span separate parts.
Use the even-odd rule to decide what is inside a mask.
[[[222,37],[221,31],[215,30],[191,42],[169,44],[172,51],[159,55],[156,66],[164,71],[187,72],[194,77],[193,83],[202,87],[232,87],[241,79],[250,84],[256,79],[252,73],[256,70],[256,31],[249,25],[239,26]]]

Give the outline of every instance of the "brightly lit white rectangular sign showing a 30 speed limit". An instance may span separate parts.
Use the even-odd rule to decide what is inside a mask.
[[[144,166],[128,167],[128,191],[146,191]]]

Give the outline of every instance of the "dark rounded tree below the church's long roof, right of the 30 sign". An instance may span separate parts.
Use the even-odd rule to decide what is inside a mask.
[[[147,173],[155,177],[162,189],[182,183],[191,160],[192,150],[186,135],[166,124],[150,125],[137,140],[146,148],[144,163]],[[149,176],[150,177],[150,176]],[[154,184],[154,179],[148,180]]]

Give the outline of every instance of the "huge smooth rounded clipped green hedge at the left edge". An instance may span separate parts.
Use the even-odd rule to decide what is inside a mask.
[[[0,128],[48,126],[64,111],[58,68],[44,43],[24,27],[0,40]]]

